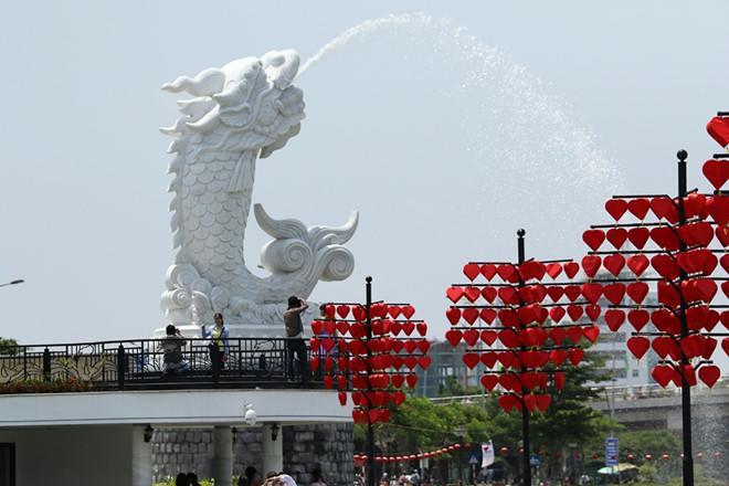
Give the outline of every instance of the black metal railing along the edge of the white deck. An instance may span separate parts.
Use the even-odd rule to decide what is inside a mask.
[[[286,339],[230,338],[222,361],[209,339],[183,339],[184,366],[173,370],[165,363],[163,339],[13,346],[0,350],[0,393],[323,387],[316,374],[302,382],[297,361],[288,369]]]

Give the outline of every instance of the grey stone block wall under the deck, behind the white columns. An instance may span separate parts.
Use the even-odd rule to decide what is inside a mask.
[[[239,476],[253,465],[265,476],[261,427],[239,427],[235,436],[233,474]],[[212,429],[156,430],[152,436],[152,474],[155,480],[194,472],[212,476]],[[316,424],[284,426],[284,472],[296,483],[307,486],[311,473],[321,471],[328,486],[350,486],[353,479],[355,451],[351,424]]]

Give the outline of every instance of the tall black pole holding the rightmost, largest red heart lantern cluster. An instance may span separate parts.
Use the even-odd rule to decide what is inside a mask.
[[[686,224],[686,212],[684,210],[684,198],[687,193],[687,181],[686,181],[686,159],[688,158],[688,152],[686,150],[678,150],[676,154],[678,157],[678,228]],[[686,244],[682,239],[679,241],[679,251],[686,251]],[[680,270],[680,276],[678,281],[678,286],[680,288],[682,283],[686,279],[686,272],[683,268]],[[686,309],[687,305],[684,300],[684,293],[678,293],[680,296],[680,337],[682,340],[689,336],[688,324],[686,321]],[[694,486],[694,452],[691,444],[691,388],[688,384],[688,379],[686,378],[686,370],[689,364],[689,360],[686,357],[684,350],[680,350],[680,402],[682,402],[682,421],[683,421],[683,439],[684,439],[684,457],[683,457],[683,469],[684,469],[684,486]]]

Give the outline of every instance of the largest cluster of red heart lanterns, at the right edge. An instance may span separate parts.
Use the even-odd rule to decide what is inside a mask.
[[[658,355],[661,362],[651,374],[662,387],[670,382],[695,385],[697,377],[714,387],[721,376],[719,367],[707,360],[719,342],[711,336],[714,328],[721,323],[729,329],[729,311],[712,305],[719,287],[729,296],[729,282],[722,278],[719,285],[715,276],[718,268],[729,272],[729,254],[725,254],[729,197],[721,192],[729,178],[729,160],[706,161],[704,175],[716,189],[714,194],[690,192],[682,200],[613,198],[605,210],[614,223],[593,226],[582,235],[592,251],[583,258],[585,274],[592,278],[601,266],[606,271],[608,277],[595,287],[610,302],[606,325],[613,331],[625,323],[632,326],[635,332],[627,348],[636,359],[649,349]],[[605,231],[606,226],[611,228]],[[626,241],[635,250],[624,250]],[[613,250],[600,251],[605,243]],[[648,267],[657,277],[644,276]],[[658,306],[644,306],[648,283],[655,283]],[[643,331],[648,323],[657,332]],[[729,355],[729,338],[721,347]]]

